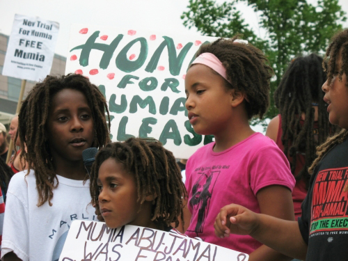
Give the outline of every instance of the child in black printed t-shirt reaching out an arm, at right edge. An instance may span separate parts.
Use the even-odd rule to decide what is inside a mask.
[[[216,217],[215,232],[251,235],[260,242],[300,260],[347,260],[348,256],[348,29],[333,37],[326,50],[327,80],[322,86],[329,120],[342,127],[317,148],[309,168],[310,187],[302,216],[285,221],[227,205]]]

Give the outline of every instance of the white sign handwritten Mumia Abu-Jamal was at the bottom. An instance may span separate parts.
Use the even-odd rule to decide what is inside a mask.
[[[173,232],[73,221],[59,261],[77,260],[247,261],[248,255]]]

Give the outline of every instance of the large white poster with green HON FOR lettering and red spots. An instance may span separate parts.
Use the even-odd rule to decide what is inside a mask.
[[[193,132],[184,77],[198,48],[215,39],[73,24],[65,72],[84,74],[100,86],[113,141],[152,137],[175,157],[188,159],[212,136]]]

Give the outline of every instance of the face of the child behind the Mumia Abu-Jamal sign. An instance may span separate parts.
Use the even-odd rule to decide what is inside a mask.
[[[99,207],[109,228],[124,225],[151,227],[151,208],[138,202],[136,180],[123,164],[109,158],[99,168]]]

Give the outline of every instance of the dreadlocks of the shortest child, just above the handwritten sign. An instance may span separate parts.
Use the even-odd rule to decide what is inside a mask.
[[[152,200],[152,221],[168,227],[173,222],[175,226],[178,225],[179,215],[184,220],[182,199],[187,198],[187,192],[180,168],[173,153],[156,140],[130,138],[124,142],[110,143],[97,153],[90,172],[90,195],[96,207],[99,207],[98,171],[109,158],[123,164],[127,172],[134,175],[141,204],[148,193],[155,195]]]

